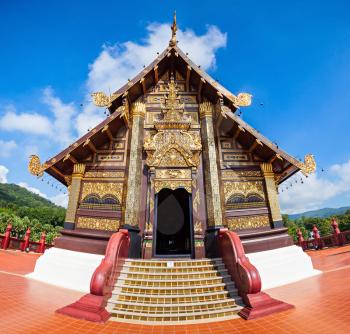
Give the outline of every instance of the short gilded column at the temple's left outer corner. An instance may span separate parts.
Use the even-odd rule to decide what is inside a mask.
[[[74,230],[75,227],[75,215],[77,213],[79,194],[81,188],[81,180],[83,179],[85,172],[84,164],[74,164],[72,181],[69,189],[69,199],[66,211],[66,219],[64,222],[64,228],[68,230]]]

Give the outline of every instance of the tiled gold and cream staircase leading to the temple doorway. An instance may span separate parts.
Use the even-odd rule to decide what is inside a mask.
[[[145,324],[232,319],[241,309],[221,259],[128,259],[107,305],[111,320]]]

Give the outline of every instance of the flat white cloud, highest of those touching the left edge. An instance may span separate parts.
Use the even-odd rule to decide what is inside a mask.
[[[17,113],[13,105],[5,107],[5,115],[0,118],[0,129],[35,135],[52,133],[50,120],[46,116],[38,113]]]

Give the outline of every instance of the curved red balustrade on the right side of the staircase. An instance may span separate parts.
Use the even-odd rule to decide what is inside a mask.
[[[238,313],[242,318],[255,319],[294,307],[261,292],[259,272],[246,257],[242,242],[236,233],[226,228],[221,229],[218,241],[221,257],[246,305]]]

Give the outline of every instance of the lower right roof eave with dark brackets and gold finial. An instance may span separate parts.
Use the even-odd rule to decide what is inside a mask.
[[[226,115],[231,122],[233,121],[236,124],[232,137],[238,140],[248,151],[258,155],[264,161],[272,163],[278,184],[298,171],[307,175],[316,170],[316,163],[311,154],[306,155],[304,162],[301,162],[281,150],[237,114],[226,112]]]

